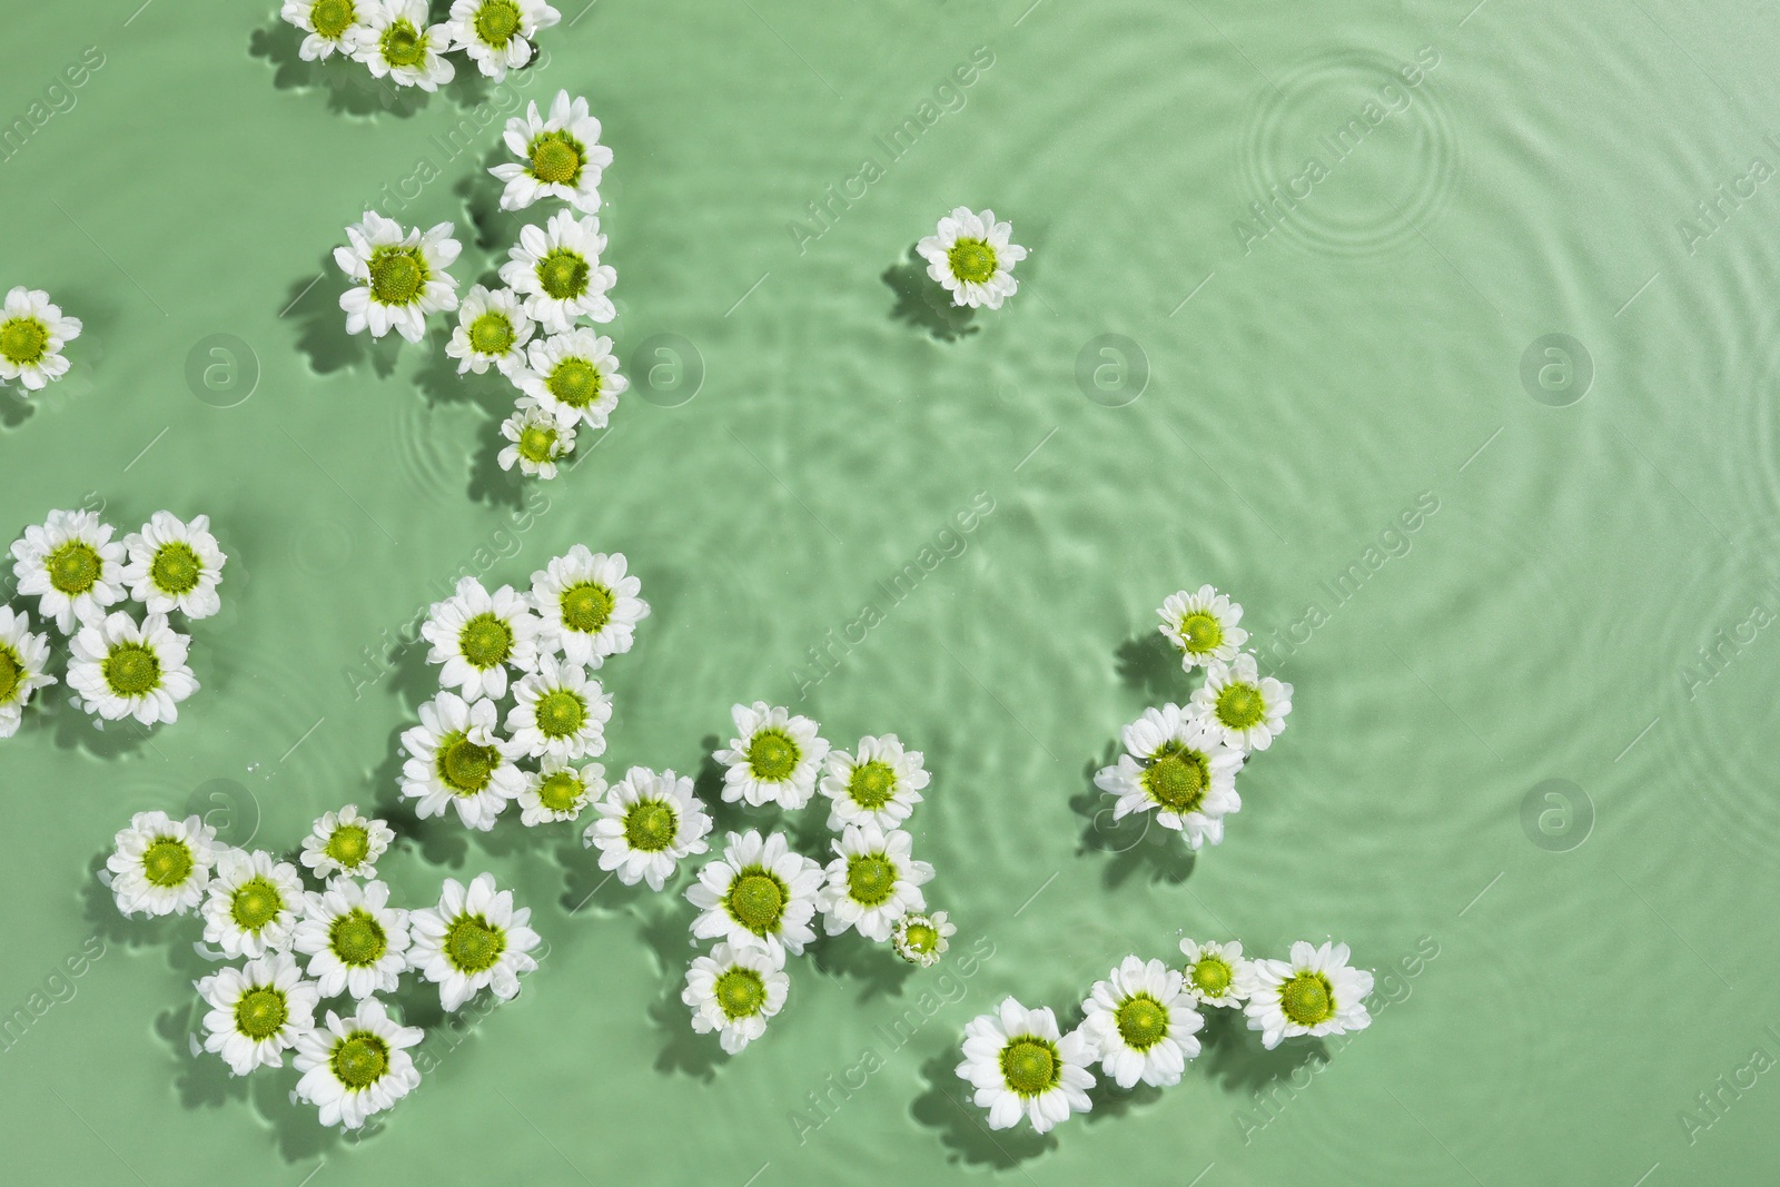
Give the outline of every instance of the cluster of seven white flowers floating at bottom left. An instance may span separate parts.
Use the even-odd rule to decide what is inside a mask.
[[[199,952],[239,961],[194,986],[208,1007],[206,1052],[233,1075],[283,1068],[294,1052],[295,1094],[322,1125],[356,1130],[420,1084],[409,1048],[424,1032],[400,1025],[379,995],[415,973],[438,988],[447,1013],[484,986],[511,1000],[541,943],[530,909],[491,874],[468,886],[447,877],[434,906],[390,906],[376,867],[393,838],[352,804],[326,813],[303,838],[301,861],[319,886],[310,890],[290,861],[221,845],[199,817],[141,812],[100,877],[125,915],[198,911]],[[329,998],[345,1000],[317,1016]]]

